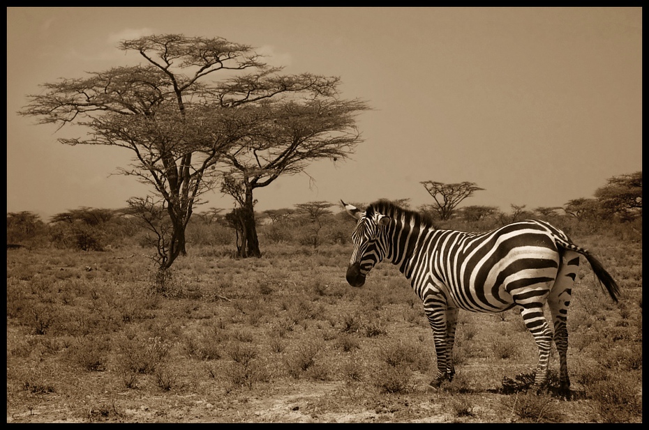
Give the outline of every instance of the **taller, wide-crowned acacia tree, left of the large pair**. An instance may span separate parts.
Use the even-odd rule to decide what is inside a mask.
[[[133,152],[133,164],[119,172],[153,187],[151,199],[133,200],[135,213],[146,214],[140,209],[148,201],[167,214],[171,228],[156,231],[165,236],[159,262],[166,269],[186,253],[186,226],[200,195],[218,185],[216,164],[254,132],[255,104],[288,93],[326,93],[336,79],[280,75],[281,68],[262,62],[252,47],[223,38],[167,34],[118,47],[140,54],[143,64],[43,84],[45,91],[29,95],[19,113],[59,128],[73,123],[89,130],[86,137],[61,143]],[[217,72],[225,72],[224,79],[213,79]]]

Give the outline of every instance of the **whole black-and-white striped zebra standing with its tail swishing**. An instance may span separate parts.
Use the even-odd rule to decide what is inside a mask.
[[[452,350],[459,309],[503,312],[518,306],[525,327],[539,349],[534,386],[548,382],[550,347],[554,340],[560,360],[560,392],[569,393],[566,316],[572,286],[585,256],[613,301],[620,289],[595,256],[542,220],[512,222],[487,233],[436,229],[421,213],[380,200],[366,210],[343,207],[358,220],[352,232],[354,249],[347,282],[360,287],[372,268],[387,259],[410,280],[424,304],[433,329],[439,387],[452,380]],[[547,303],[554,335],[544,316]]]

